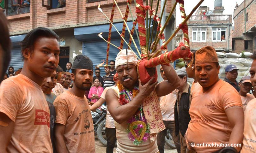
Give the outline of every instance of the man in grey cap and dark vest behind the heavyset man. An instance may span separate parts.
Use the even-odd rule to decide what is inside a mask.
[[[177,100],[174,107],[175,134],[180,135],[180,152],[186,153],[187,145],[184,135],[187,131],[188,123],[191,120],[188,113],[190,106],[190,86],[187,83],[187,73],[185,70],[176,70],[180,78],[180,86],[177,88]]]

